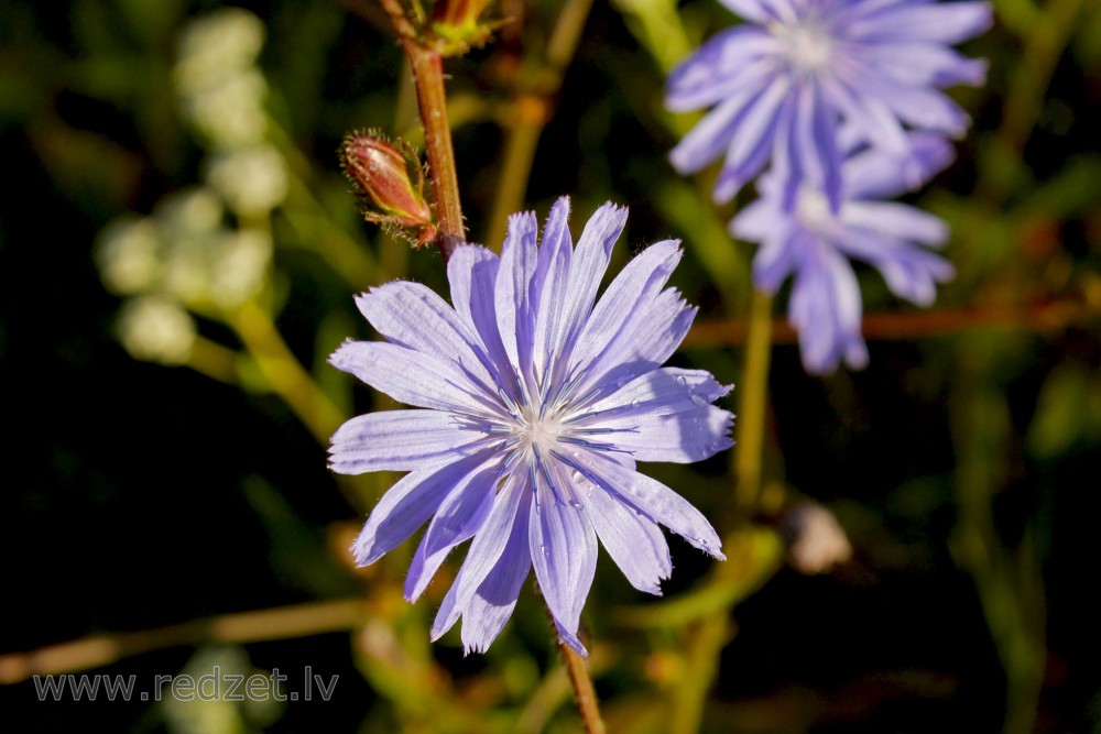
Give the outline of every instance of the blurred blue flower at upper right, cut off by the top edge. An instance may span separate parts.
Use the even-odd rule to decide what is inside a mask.
[[[675,111],[712,109],[673,150],[683,174],[726,155],[722,202],[772,161],[781,200],[802,182],[841,202],[843,123],[858,142],[903,155],[906,130],[961,135],[968,116],[938,87],[982,84],[986,65],[956,53],[986,30],[986,2],[722,0],[748,20],[705,43],[669,77]],[[909,188],[914,188],[911,182]]]

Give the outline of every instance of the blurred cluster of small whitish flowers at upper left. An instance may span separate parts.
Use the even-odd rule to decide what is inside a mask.
[[[184,30],[173,80],[185,120],[209,152],[205,185],[166,196],[148,217],[111,222],[96,243],[103,284],[127,297],[119,340],[135,359],[186,362],[197,333],[192,313],[232,311],[266,283],[265,220],[286,198],[288,173],[268,142],[268,83],[257,66],[263,43],[263,23],[240,8]]]

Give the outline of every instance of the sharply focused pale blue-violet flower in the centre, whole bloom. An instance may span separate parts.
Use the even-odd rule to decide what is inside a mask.
[[[597,300],[626,210],[604,205],[574,248],[569,200],[536,247],[534,213],[515,215],[498,259],[451,255],[454,307],[423,285],[389,283],[357,303],[389,343],[349,341],[330,358],[416,409],[352,418],[333,437],[346,474],[407,471],[371,513],[352,552],[368,565],[429,521],[405,580],[415,600],[444,558],[473,538],[432,628],[461,616],[467,651],[483,651],[534,566],[562,639],[577,638],[597,539],[637,589],[672,571],[658,524],[722,558],[707,519],[635,461],[691,462],[731,446],[730,387],[699,370],[662,368],[696,309],[665,284],[675,241],[635,256]]]

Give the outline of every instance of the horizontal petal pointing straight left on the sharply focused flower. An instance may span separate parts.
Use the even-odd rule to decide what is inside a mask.
[[[484,434],[443,410],[383,410],[347,421],[333,436],[329,468],[340,474],[411,471],[468,454]]]

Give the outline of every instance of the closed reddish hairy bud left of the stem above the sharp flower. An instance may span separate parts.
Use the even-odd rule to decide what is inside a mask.
[[[340,145],[340,164],[360,195],[364,219],[397,227],[430,227],[432,208],[423,194],[421,163],[408,143],[402,141],[402,149],[378,133],[353,132]]]

